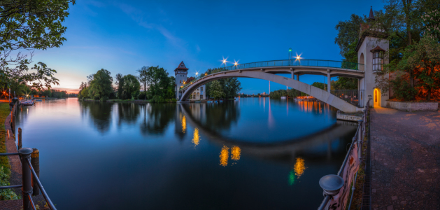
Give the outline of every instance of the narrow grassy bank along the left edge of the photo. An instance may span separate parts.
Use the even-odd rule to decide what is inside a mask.
[[[0,153],[6,153],[6,128],[5,120],[10,113],[8,103],[0,103]],[[0,156],[0,186],[9,186],[10,165],[7,156]],[[0,190],[0,200],[16,200],[17,195],[12,190]]]

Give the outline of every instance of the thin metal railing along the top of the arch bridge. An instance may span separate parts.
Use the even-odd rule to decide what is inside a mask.
[[[319,67],[330,67],[337,69],[351,69],[361,71],[360,69],[364,69],[364,64],[352,63],[352,62],[340,62],[333,60],[320,60],[320,59],[281,59],[281,60],[272,60],[272,61],[264,61],[264,62],[253,62],[247,64],[237,64],[234,66],[226,66],[219,69],[211,70],[206,73],[201,74],[200,76],[196,76],[194,80],[190,81],[190,83],[186,83],[183,87],[180,87],[179,90],[183,90],[188,85],[191,85],[196,80],[203,78],[204,76],[210,75],[212,73],[218,73],[222,71],[231,71],[231,70],[239,70],[239,69],[250,69],[250,68],[260,68],[260,67],[271,67],[271,66],[319,66]]]

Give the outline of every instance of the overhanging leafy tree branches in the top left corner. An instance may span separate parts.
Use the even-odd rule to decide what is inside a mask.
[[[33,67],[31,57],[20,50],[47,50],[59,47],[66,40],[62,35],[66,27],[62,25],[69,15],[69,3],[75,0],[59,1],[0,1],[0,86],[10,87],[12,83],[31,83],[41,89],[58,85],[57,73],[43,62]],[[18,50],[18,52],[17,52]],[[14,56],[11,56],[14,55]],[[29,70],[34,72],[29,73]]]

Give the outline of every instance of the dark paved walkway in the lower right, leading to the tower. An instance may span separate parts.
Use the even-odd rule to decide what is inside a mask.
[[[440,209],[440,111],[371,109],[372,209]]]

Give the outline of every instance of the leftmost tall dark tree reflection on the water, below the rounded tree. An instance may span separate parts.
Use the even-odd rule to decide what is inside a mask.
[[[111,111],[113,104],[104,102],[80,102],[81,115],[90,115],[90,120],[99,132],[107,132],[111,124]]]

